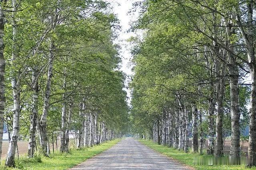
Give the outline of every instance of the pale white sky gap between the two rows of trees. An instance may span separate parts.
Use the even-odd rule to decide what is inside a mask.
[[[122,63],[120,64],[120,70],[124,72],[126,77],[125,86],[128,87],[130,82],[130,76],[133,74],[132,72],[132,55],[130,53],[131,45],[126,41],[132,36],[137,36],[134,32],[128,32],[130,28],[130,23],[135,21],[139,12],[133,12],[132,14],[128,14],[129,10],[132,9],[132,4],[134,2],[138,2],[139,0],[105,0],[106,2],[110,2],[113,7],[113,13],[116,14],[120,21],[121,30],[119,31],[118,39],[114,43],[121,46],[120,57],[122,59]],[[128,97],[128,105],[130,105],[131,100],[131,92],[130,89],[125,89]]]

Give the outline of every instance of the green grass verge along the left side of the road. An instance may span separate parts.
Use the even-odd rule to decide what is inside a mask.
[[[83,149],[71,149],[70,153],[60,154],[54,153],[50,154],[50,158],[44,156],[35,156],[35,158],[26,158],[25,156],[20,157],[16,161],[16,168],[7,168],[5,166],[0,166],[0,170],[66,170],[72,168],[77,164],[84,162],[86,159],[109,149],[118,143],[120,139],[113,141],[108,141],[102,145],[97,145],[91,148]],[[4,162],[2,162],[3,164]]]

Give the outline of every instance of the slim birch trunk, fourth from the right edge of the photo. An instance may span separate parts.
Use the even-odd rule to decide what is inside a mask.
[[[207,154],[214,153],[214,99],[208,99],[208,147],[207,147]]]

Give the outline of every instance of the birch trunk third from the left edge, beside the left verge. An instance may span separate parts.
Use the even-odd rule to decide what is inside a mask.
[[[28,144],[28,157],[32,158],[35,152],[36,147],[36,121],[38,117],[38,68],[35,67],[32,72],[32,112],[30,114],[30,136],[29,136],[29,144]]]

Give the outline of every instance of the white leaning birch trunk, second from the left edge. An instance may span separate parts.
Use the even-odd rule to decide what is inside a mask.
[[[16,0],[12,0],[12,35],[13,35],[13,51],[12,51],[12,66],[15,67],[15,61],[17,59],[17,23],[15,21],[17,5]],[[17,142],[20,129],[20,82],[16,78],[16,73],[12,72],[12,92],[13,92],[13,125],[12,125],[12,137],[9,143],[8,153],[6,156],[5,165],[14,166],[14,158],[17,148]]]

